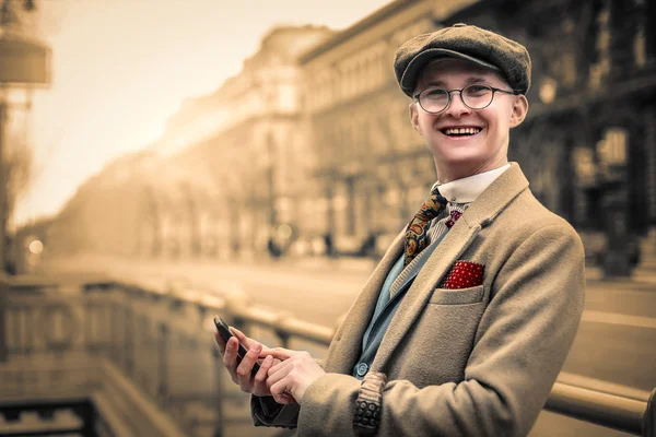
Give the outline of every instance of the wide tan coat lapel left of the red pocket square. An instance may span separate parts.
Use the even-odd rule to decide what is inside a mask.
[[[465,211],[440,244],[440,250],[431,255],[410,285],[383,338],[372,369],[383,371],[385,364],[421,314],[442,277],[471,245],[480,229],[488,226],[526,188],[528,188],[528,180],[519,166],[512,163],[511,168],[492,182]]]

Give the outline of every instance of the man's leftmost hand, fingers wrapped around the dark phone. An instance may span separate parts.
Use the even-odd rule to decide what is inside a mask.
[[[225,343],[219,332],[214,332],[214,340],[223,354],[223,365],[230,373],[233,382],[247,393],[258,397],[271,395],[267,386],[267,373],[274,364],[273,356],[268,354],[270,350],[261,343],[249,339],[236,328],[231,327],[230,330],[235,336],[232,336],[227,343]],[[242,342],[248,352],[242,359],[242,363],[237,365],[239,342]],[[260,356],[263,356],[265,359],[260,363],[258,373],[253,376],[250,371]]]

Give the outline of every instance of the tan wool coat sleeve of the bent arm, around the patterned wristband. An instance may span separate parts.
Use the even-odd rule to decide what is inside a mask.
[[[584,292],[575,231],[559,224],[534,232],[497,271],[464,380],[421,389],[389,381],[378,435],[526,436],[572,346]],[[301,403],[298,435],[353,435],[359,388],[345,375],[315,381]]]

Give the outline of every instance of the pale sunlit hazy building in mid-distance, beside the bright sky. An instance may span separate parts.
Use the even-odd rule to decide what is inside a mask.
[[[242,71],[209,97],[208,109],[188,123],[190,129],[204,123],[212,132],[189,143],[175,165],[211,175],[219,198],[203,228],[218,229],[220,255],[262,253],[270,239],[283,245],[311,232],[313,221],[304,214],[313,200],[314,161],[301,117],[296,59],[330,34],[317,26],[273,28]]]

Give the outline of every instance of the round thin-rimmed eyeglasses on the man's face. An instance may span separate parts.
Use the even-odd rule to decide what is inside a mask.
[[[440,114],[448,107],[450,104],[450,93],[460,93],[460,99],[470,109],[483,109],[492,104],[494,99],[494,93],[506,93],[515,94],[514,91],[506,91],[495,88],[488,85],[468,85],[462,90],[442,90],[442,88],[426,88],[419,94],[414,95],[414,102],[419,102],[419,106],[422,107],[429,114]]]

